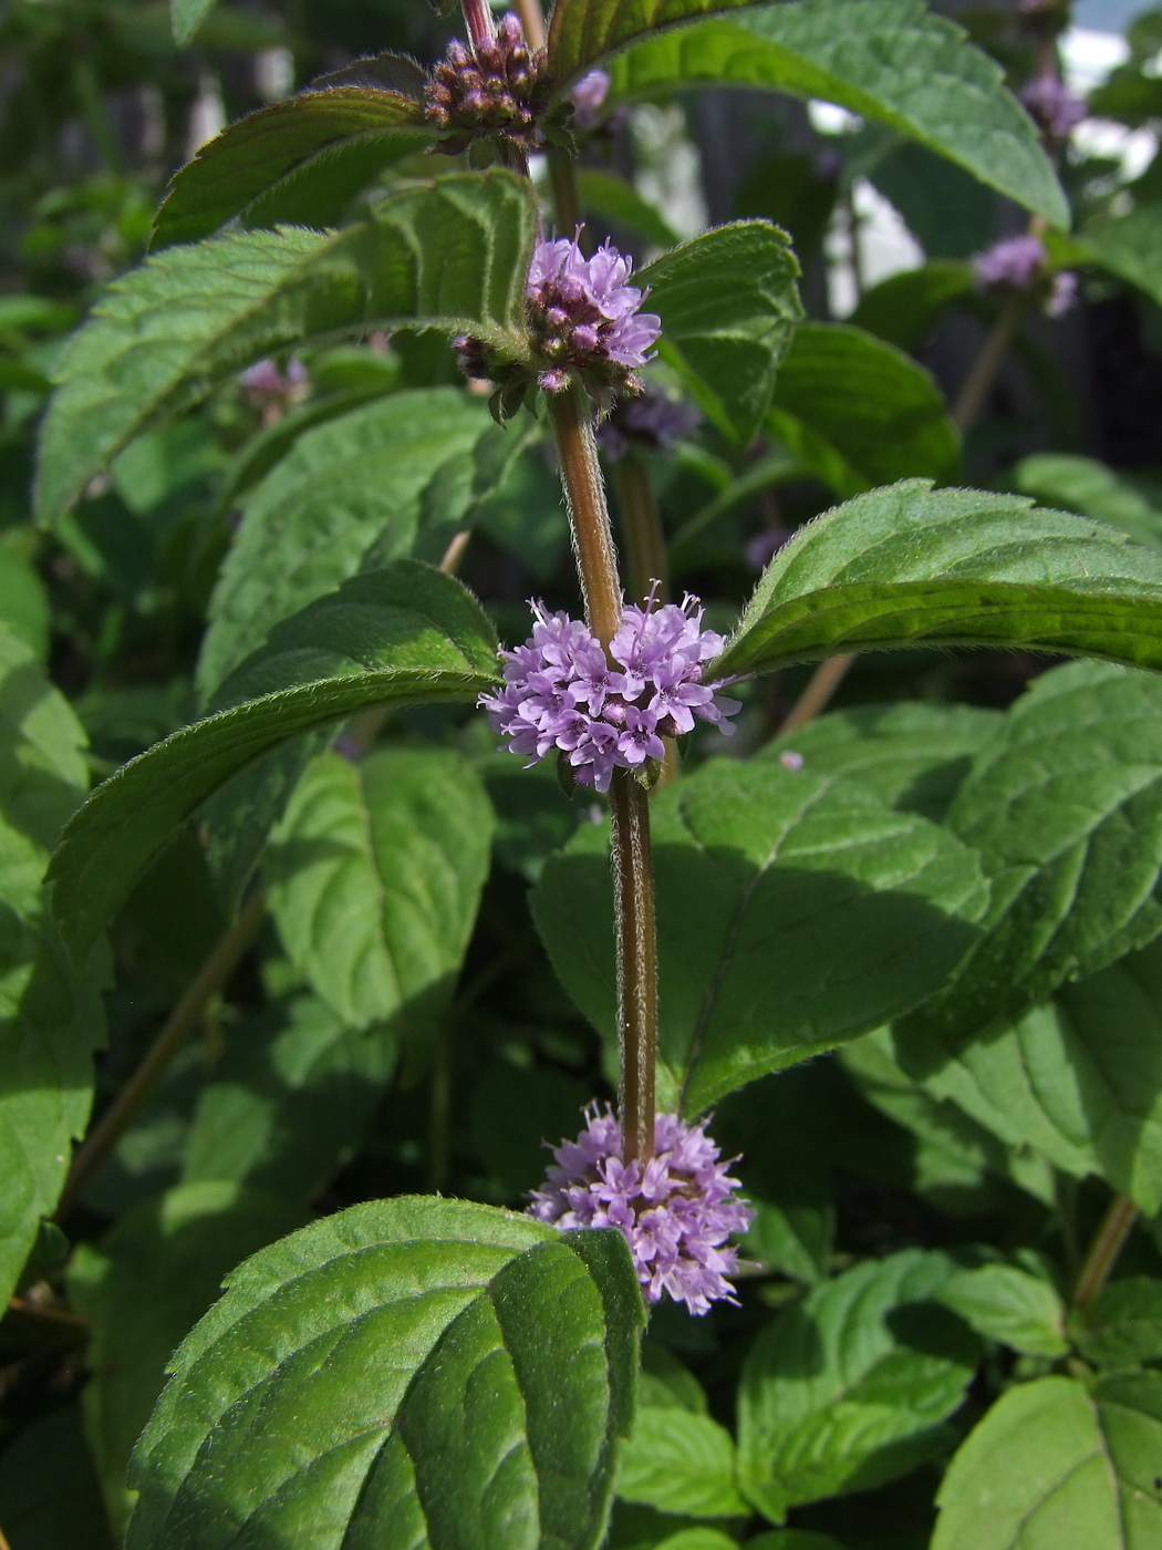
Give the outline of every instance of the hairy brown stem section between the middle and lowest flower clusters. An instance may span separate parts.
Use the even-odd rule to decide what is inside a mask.
[[[654,1156],[657,952],[649,797],[632,770],[614,770],[614,911],[617,918],[617,1035],[621,1052],[621,1156]]]

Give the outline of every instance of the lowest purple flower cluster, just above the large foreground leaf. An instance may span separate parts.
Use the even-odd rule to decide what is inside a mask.
[[[711,1302],[734,1302],[727,1276],[737,1269],[733,1232],[745,1232],[755,1212],[734,1194],[739,1181],[719,1162],[705,1125],[677,1114],[654,1121],[655,1155],[645,1164],[621,1161],[621,1127],[596,1104],[586,1110],[576,1141],[553,1152],[545,1187],[533,1190],[528,1214],[562,1232],[618,1228],[634,1256],[646,1302],[668,1291],[691,1313]]]

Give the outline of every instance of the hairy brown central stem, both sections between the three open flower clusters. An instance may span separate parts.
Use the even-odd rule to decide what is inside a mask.
[[[593,411],[579,383],[548,398],[561,480],[569,502],[586,618],[607,649],[621,623],[621,581],[609,507],[593,440]],[[621,1155],[654,1155],[654,1062],[657,1049],[657,958],[649,798],[631,770],[614,770],[614,916],[617,932],[617,1026],[621,1051]]]

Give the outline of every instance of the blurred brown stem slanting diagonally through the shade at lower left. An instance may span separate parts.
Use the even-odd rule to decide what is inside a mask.
[[[237,921],[218,938],[186,994],[166,1018],[161,1032],[146,1051],[141,1065],[77,1147],[65,1187],[60,1192],[60,1201],[53,1214],[56,1221],[64,1221],[85,1184],[113,1152],[146,1099],[166,1074],[170,1060],[197,1026],[211,997],[218,994],[253,947],[265,918],[266,901],[262,890],[256,890]]]

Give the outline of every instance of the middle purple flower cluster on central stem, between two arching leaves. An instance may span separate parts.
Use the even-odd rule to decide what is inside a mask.
[[[696,597],[688,594],[682,608],[658,608],[652,597],[646,608],[627,608],[609,657],[581,620],[530,606],[531,637],[500,653],[504,688],[480,696],[513,753],[535,764],[556,749],[579,786],[609,790],[615,769],[660,760],[662,738],[689,732],[696,716],[734,732],[725,718],[739,701],[717,694],[719,682],[702,682],[702,663],[719,654],[722,636],[702,628]]]

